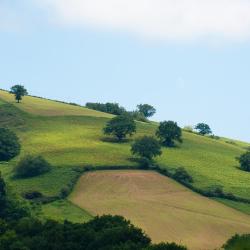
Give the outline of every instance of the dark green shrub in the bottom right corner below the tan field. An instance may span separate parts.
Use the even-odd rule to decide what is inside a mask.
[[[250,234],[236,234],[229,239],[223,246],[225,250],[249,250],[250,249]]]

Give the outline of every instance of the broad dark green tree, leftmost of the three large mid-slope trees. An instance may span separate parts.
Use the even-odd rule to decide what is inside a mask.
[[[107,122],[104,134],[114,135],[119,141],[136,132],[136,123],[129,115],[119,115]]]

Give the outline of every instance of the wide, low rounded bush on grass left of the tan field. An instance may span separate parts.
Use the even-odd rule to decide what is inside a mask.
[[[15,167],[17,177],[33,177],[47,173],[51,170],[51,165],[42,156],[27,155],[19,161]]]

